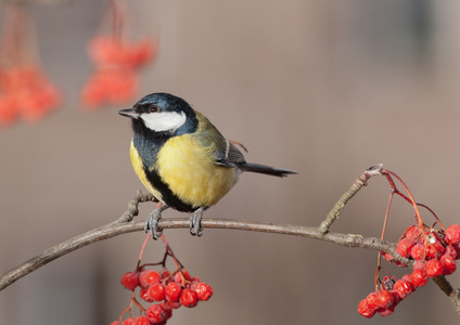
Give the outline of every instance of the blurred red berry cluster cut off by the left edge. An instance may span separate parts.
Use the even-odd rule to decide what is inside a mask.
[[[3,14],[0,55],[0,125],[36,121],[61,103],[58,89],[37,64],[34,24],[27,8],[10,3]]]

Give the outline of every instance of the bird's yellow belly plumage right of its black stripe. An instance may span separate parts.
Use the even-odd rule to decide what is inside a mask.
[[[159,151],[156,169],[181,200],[195,207],[209,207],[238,180],[235,168],[214,164],[213,151],[213,147],[200,145],[192,134],[174,136]]]

